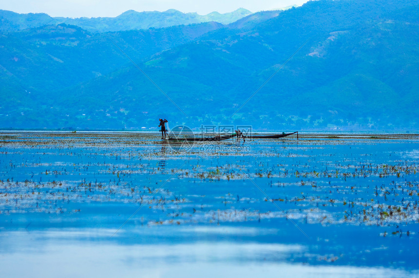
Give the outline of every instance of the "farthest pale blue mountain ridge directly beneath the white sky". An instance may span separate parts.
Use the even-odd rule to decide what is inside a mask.
[[[66,23],[76,25],[89,32],[117,32],[136,29],[164,28],[202,22],[229,24],[250,15],[251,12],[240,8],[231,13],[212,12],[201,16],[197,13],[182,13],[174,9],[165,12],[126,11],[115,18],[52,18],[46,14],[17,14],[0,10],[0,31],[19,31],[40,27],[46,24]]]

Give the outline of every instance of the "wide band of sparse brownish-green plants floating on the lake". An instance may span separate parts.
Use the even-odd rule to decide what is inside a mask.
[[[401,159],[400,152],[387,152],[382,159],[382,153],[364,151],[380,144],[368,139],[382,136],[345,136],[255,140],[244,151],[217,152],[200,151],[202,144],[179,151],[142,133],[4,133],[0,214],[80,214],[89,204],[147,204],[151,212],[142,212],[147,217],[163,213],[150,224],[283,217],[322,225],[419,222],[419,163]],[[396,144],[417,140],[412,134],[393,137]],[[180,167],[182,161],[187,166]],[[176,186],[159,188],[165,182]],[[252,182],[287,216],[255,194]],[[191,194],[198,189],[201,195]],[[205,201],[196,196],[206,196]]]

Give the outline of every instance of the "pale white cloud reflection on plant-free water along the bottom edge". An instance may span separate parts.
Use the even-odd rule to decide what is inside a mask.
[[[94,240],[95,235],[107,232],[43,231],[30,235],[8,232],[8,248],[0,249],[2,277],[408,277],[418,274],[382,267],[310,266],[284,261],[290,254],[305,251],[298,244],[124,245]],[[88,236],[90,240],[78,240],[80,236]]]

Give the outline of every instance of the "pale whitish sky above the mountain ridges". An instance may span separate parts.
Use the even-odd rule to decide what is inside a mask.
[[[238,8],[251,12],[279,9],[307,0],[1,0],[0,9],[17,13],[46,13],[52,17],[116,17],[127,10],[227,13]]]

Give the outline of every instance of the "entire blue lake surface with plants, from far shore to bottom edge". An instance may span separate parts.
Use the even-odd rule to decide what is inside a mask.
[[[2,277],[419,275],[419,137],[0,132]]]

